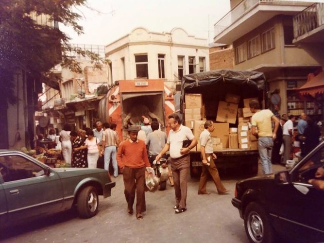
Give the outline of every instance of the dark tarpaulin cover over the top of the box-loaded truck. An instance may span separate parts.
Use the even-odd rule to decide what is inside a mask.
[[[263,92],[266,79],[263,72],[219,69],[184,75],[181,82],[181,104],[185,93],[201,93],[204,89],[237,87],[247,92]]]

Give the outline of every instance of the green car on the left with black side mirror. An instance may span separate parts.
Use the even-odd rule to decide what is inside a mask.
[[[115,187],[102,169],[50,168],[18,151],[0,150],[0,226],[11,226],[77,206],[80,217],[97,214],[98,195]]]

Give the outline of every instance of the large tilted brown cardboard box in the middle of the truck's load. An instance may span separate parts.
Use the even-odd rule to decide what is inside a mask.
[[[238,113],[238,104],[226,103],[220,101],[218,104],[216,121],[236,123],[236,116]]]

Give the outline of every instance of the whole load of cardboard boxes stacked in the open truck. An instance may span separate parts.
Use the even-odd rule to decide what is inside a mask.
[[[244,108],[238,108],[240,97],[234,94],[227,94],[225,101],[218,103],[215,130],[212,132],[212,142],[214,150],[224,148],[231,149],[257,149],[257,139],[252,135],[248,122],[252,117],[249,102],[257,98],[244,99]],[[185,95],[185,124],[193,129],[193,134],[198,141],[198,145],[193,150],[200,151],[199,137],[204,131],[205,106],[202,94]],[[236,124],[238,127],[229,127]]]

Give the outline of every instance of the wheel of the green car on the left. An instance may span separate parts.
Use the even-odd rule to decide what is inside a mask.
[[[99,199],[97,189],[88,186],[82,189],[77,198],[77,208],[81,218],[91,218],[98,212]]]

